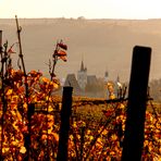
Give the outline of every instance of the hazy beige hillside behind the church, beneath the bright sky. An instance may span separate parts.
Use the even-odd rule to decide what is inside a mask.
[[[27,71],[41,70],[48,75],[49,58],[57,40],[63,39],[69,46],[69,58],[57,66],[60,78],[76,73],[84,59],[88,74],[103,77],[108,70],[110,79],[120,75],[121,81],[128,81],[136,45],[152,48],[150,79],[161,77],[161,20],[21,18],[18,23]],[[0,18],[0,29],[3,41],[17,41],[15,20]]]

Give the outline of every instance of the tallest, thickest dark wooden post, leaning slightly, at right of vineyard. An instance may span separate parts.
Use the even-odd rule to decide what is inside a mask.
[[[151,48],[134,47],[122,161],[140,161],[144,147]]]

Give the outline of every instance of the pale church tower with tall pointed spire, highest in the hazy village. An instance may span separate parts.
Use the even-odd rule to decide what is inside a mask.
[[[84,66],[84,62],[82,61],[81,70],[77,72],[77,82],[83,91],[85,91],[87,85],[87,67]]]

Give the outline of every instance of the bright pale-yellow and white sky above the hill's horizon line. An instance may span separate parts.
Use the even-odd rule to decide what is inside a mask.
[[[159,18],[161,0],[0,0],[0,17]]]

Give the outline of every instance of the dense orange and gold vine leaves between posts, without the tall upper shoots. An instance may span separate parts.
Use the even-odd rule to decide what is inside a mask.
[[[5,106],[1,157],[4,160],[24,160],[29,153],[30,160],[55,160],[62,98],[49,97],[49,92],[58,84],[38,72],[30,72],[26,102],[23,75],[20,71],[12,72],[10,81],[13,84],[5,88],[5,104],[1,103],[1,117]],[[143,160],[159,160],[160,113],[151,101],[147,106]],[[70,120],[69,160],[121,160],[126,101],[107,103],[102,99],[73,97]]]

